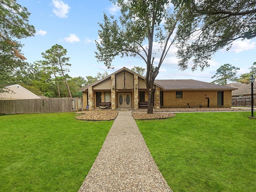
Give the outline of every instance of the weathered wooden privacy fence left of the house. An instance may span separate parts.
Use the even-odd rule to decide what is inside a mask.
[[[82,97],[0,100],[0,114],[82,111]]]

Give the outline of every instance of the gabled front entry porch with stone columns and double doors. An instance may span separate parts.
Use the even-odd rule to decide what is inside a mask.
[[[138,109],[146,103],[145,78],[126,69],[90,84],[83,91],[84,109]],[[103,106],[103,107],[101,107]],[[160,108],[160,87],[154,85],[154,108]]]

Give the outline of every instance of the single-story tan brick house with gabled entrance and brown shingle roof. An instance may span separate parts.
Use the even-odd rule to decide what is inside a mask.
[[[196,80],[155,80],[154,108],[231,107],[235,89]],[[145,78],[125,67],[80,91],[89,110],[146,108],[148,101]]]

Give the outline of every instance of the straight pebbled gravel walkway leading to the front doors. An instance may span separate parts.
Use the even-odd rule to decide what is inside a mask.
[[[78,192],[172,192],[131,111],[119,111]]]

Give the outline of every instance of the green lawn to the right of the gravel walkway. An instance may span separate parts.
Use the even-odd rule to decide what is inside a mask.
[[[136,120],[174,192],[256,191],[256,120],[250,112],[182,113]]]

